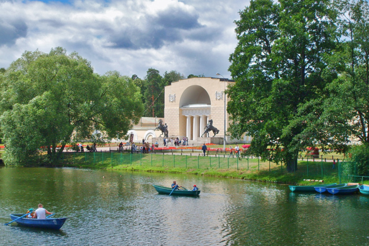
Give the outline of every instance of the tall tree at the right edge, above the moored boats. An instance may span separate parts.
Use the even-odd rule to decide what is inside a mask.
[[[327,87],[320,125],[325,143],[345,151],[352,139],[369,145],[369,4],[367,1],[335,1],[339,46],[330,58],[339,76]]]

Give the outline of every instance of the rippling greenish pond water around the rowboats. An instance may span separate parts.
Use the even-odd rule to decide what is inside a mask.
[[[103,178],[105,176],[105,178]],[[198,197],[156,193],[153,184]],[[292,193],[286,185],[195,175],[0,168],[0,222],[38,203],[59,231],[0,225],[0,245],[369,245],[369,197]]]

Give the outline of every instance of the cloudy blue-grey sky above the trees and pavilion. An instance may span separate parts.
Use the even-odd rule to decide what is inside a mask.
[[[94,71],[144,78],[149,68],[231,78],[239,11],[249,0],[0,0],[0,67],[61,46]],[[221,77],[221,76],[220,76]]]

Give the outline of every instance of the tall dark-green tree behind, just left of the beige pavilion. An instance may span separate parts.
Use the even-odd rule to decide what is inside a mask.
[[[164,117],[164,86],[159,71],[149,68],[145,77],[145,116]]]

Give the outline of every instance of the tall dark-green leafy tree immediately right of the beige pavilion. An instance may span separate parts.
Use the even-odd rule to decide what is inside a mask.
[[[230,56],[235,85],[228,90],[229,131],[253,137],[250,151],[297,168],[301,149],[317,143],[308,119],[327,94],[324,75],[335,46],[328,1],[254,0],[235,21]]]

